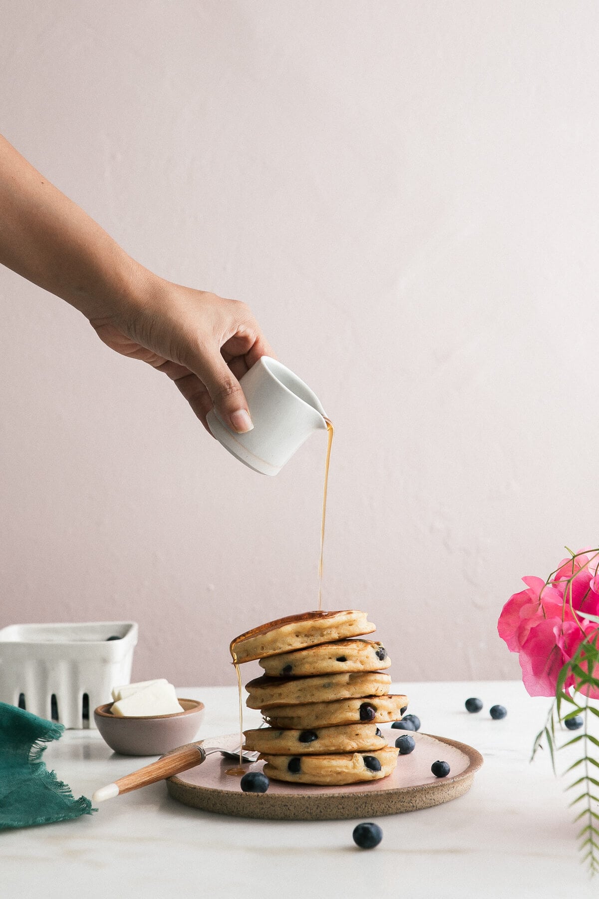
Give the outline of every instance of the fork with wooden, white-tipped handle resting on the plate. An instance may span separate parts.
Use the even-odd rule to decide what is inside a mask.
[[[173,749],[163,755],[162,759],[153,761],[144,768],[139,768],[131,774],[126,774],[124,778],[115,780],[106,787],[98,788],[92,796],[92,802],[104,802],[106,799],[113,799],[120,796],[121,793],[130,793],[134,789],[148,787],[155,784],[158,780],[164,780],[172,777],[173,774],[181,774],[181,771],[187,771],[189,768],[195,768],[206,761],[208,755],[220,752],[225,759],[240,760],[241,746],[237,752],[223,749],[221,746],[210,746],[204,749],[202,743],[189,743],[187,746],[181,746],[181,749]],[[243,764],[251,765],[258,759],[260,752],[243,752],[241,760]]]

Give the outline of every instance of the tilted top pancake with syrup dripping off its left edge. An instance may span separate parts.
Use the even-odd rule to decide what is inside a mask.
[[[252,662],[348,636],[372,634],[375,629],[367,620],[366,612],[304,612],[248,630],[236,636],[230,648],[233,662]]]

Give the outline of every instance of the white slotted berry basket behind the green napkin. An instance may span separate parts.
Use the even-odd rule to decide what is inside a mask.
[[[135,621],[2,628],[0,702],[65,727],[95,727],[93,709],[131,679],[136,644]]]

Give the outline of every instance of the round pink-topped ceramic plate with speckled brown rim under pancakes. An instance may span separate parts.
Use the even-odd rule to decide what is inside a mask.
[[[381,728],[387,743],[406,731]],[[344,787],[312,787],[271,780],[267,793],[242,793],[239,777],[226,774],[234,766],[220,753],[166,781],[169,793],[186,806],[207,812],[233,814],[242,818],[270,818],[284,821],[325,821],[337,818],[365,818],[382,814],[413,812],[440,806],[463,796],[471,788],[474,774],[482,765],[480,752],[431,734],[411,733],[416,749],[400,755],[388,778]],[[222,746],[234,750],[239,734],[211,737],[202,741],[206,748]],[[448,761],[451,773],[436,778],[430,770],[434,761]],[[262,761],[244,765],[244,770],[261,770]]]

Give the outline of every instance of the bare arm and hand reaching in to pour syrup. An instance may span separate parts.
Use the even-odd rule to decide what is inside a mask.
[[[250,309],[158,278],[0,136],[0,263],[66,299],[112,350],[172,378],[200,421],[251,431],[239,378],[271,355]]]

